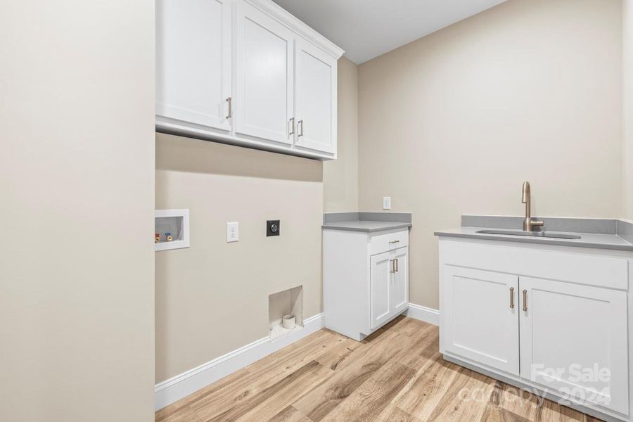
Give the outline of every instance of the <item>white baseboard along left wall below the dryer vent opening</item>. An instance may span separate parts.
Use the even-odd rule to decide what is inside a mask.
[[[197,368],[190,369],[154,387],[154,409],[162,409],[173,402],[177,402],[193,392],[215,383],[244,366],[266,357],[295,341],[319,331],[324,327],[323,314],[310,316],[303,321],[303,328],[282,337],[271,340],[269,337],[260,338],[254,342],[240,347],[233,352],[217,357]]]

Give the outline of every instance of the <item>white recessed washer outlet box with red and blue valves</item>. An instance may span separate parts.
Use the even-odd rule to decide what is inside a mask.
[[[189,247],[189,210],[154,211],[154,250]]]

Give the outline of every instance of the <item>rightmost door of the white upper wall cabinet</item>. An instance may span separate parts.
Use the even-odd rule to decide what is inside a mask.
[[[312,44],[297,40],[296,145],[314,151],[336,152],[335,58]]]

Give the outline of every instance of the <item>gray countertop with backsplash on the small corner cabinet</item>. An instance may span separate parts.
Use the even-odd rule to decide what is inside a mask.
[[[409,212],[329,212],[323,216],[323,229],[364,231],[384,231],[411,227]]]

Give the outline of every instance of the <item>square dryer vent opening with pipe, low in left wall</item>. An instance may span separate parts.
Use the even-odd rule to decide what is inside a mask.
[[[270,338],[303,328],[303,286],[297,286],[268,296]]]

